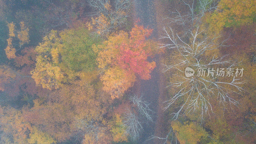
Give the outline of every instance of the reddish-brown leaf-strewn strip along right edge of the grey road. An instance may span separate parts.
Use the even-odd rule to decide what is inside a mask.
[[[154,0],[154,5],[156,9],[156,28],[157,28],[157,35],[160,37],[164,31],[163,28],[165,27],[172,27],[175,28],[166,17],[171,17],[171,12],[179,11],[179,12],[186,12],[186,6],[183,5],[181,0]],[[177,27],[175,28],[179,30]],[[168,123],[169,117],[164,113],[164,104],[163,102],[166,100],[167,95],[167,79],[166,73],[162,72],[162,63],[161,60],[168,55],[170,50],[166,50],[164,54],[160,55],[160,62],[158,65],[161,67],[159,68],[159,98],[158,98],[158,110],[157,110],[157,121],[156,121],[156,128],[155,128],[155,136],[166,138],[167,133],[170,129],[170,124]],[[154,143],[163,143],[165,140],[155,139]]]

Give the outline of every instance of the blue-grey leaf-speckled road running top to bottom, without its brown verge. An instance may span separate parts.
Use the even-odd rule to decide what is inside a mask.
[[[139,24],[144,27],[148,27],[153,30],[150,38],[158,38],[156,28],[156,18],[154,9],[154,0],[134,0],[136,18],[140,19]],[[150,103],[150,108],[154,113],[154,122],[150,124],[144,124],[144,132],[142,138],[138,141],[144,143],[149,136],[154,135],[156,120],[157,120],[157,108],[159,97],[159,56],[150,59],[156,62],[156,68],[151,72],[151,79],[140,80],[136,83],[136,87],[139,87],[140,94],[143,98]],[[147,143],[153,143],[153,141],[147,141]]]

